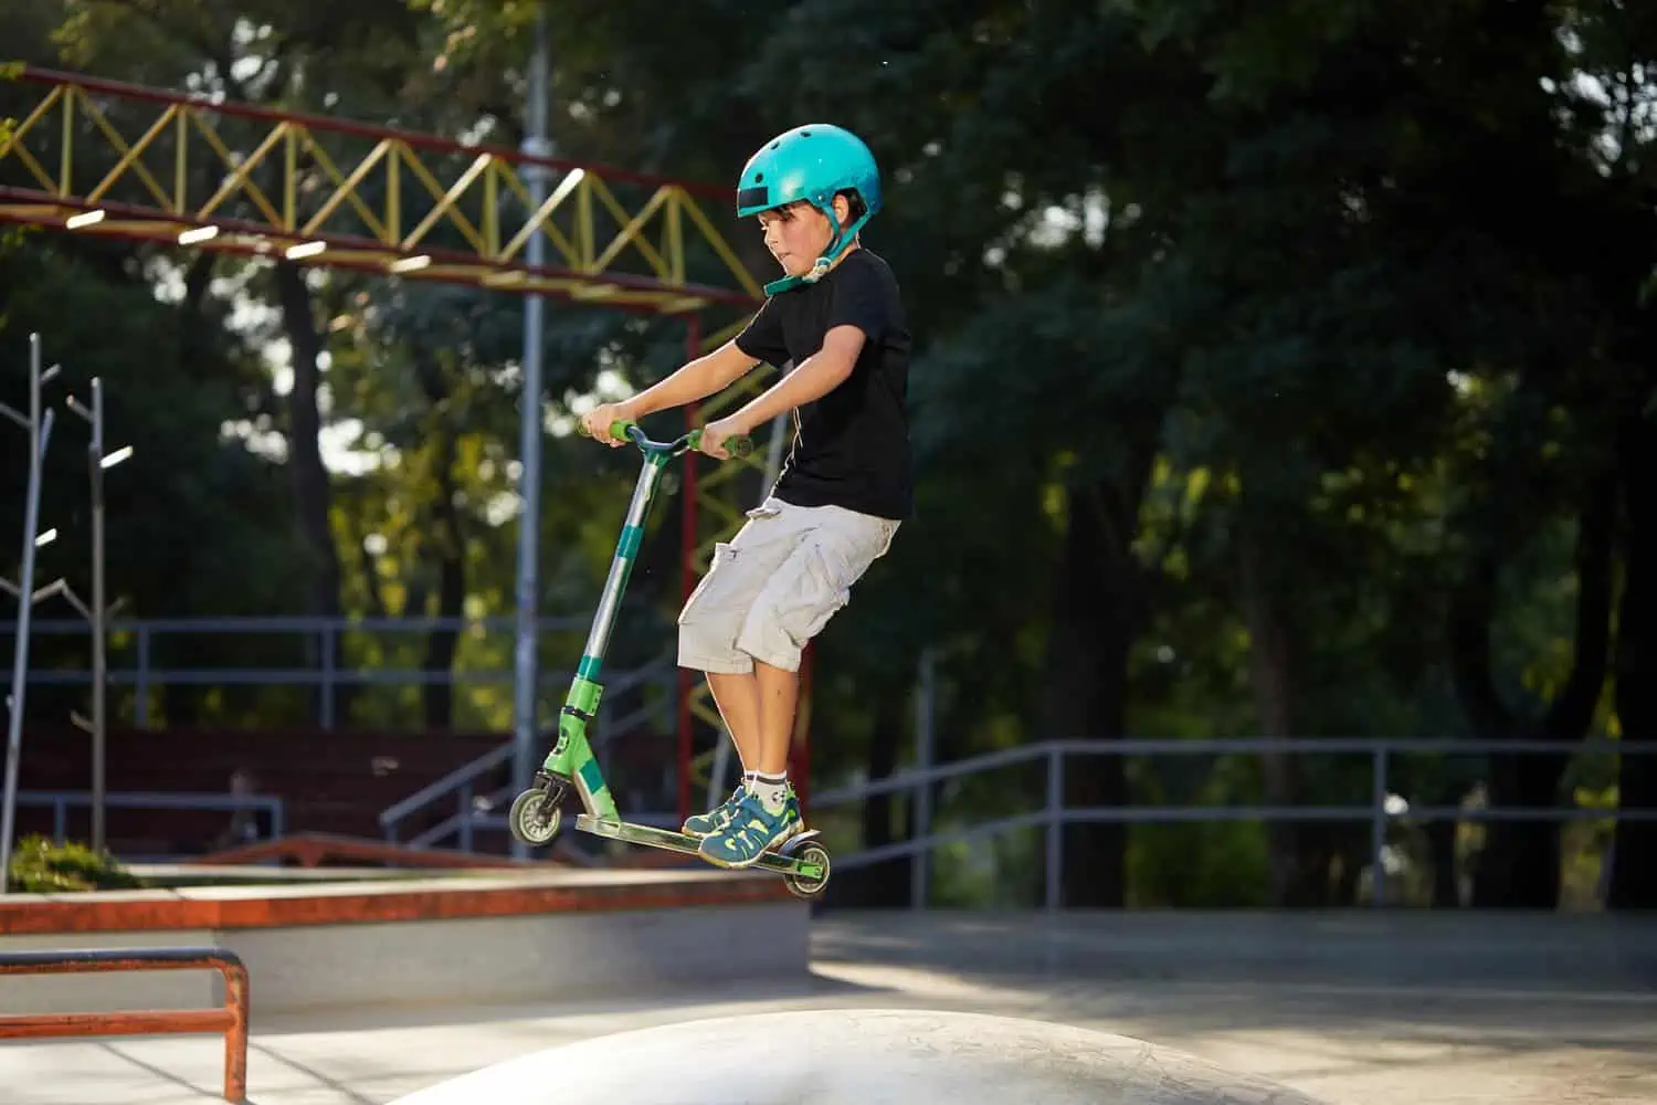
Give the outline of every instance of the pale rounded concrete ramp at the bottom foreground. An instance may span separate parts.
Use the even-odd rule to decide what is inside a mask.
[[[1322,1105],[1143,1040],[1046,1021],[819,1009],[553,1047],[393,1105]]]

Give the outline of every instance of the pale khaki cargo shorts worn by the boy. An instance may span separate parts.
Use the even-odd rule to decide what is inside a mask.
[[[807,641],[845,606],[898,522],[771,497],[714,545],[708,575],[679,611],[679,666],[746,674],[754,661],[800,669]]]

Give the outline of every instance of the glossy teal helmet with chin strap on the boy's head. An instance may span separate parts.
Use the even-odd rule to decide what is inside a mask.
[[[848,227],[833,217],[833,197],[840,192],[857,192],[863,204]],[[799,200],[828,217],[833,237],[809,273],[774,280],[766,285],[766,295],[822,280],[863,224],[880,210],[880,169],[863,139],[838,126],[809,123],[771,139],[742,166],[736,191],[737,217],[747,219]]]

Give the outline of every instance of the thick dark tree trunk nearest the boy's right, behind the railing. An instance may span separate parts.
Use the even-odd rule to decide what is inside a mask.
[[[1148,464],[1145,466],[1148,472]],[[1127,714],[1128,649],[1142,618],[1143,573],[1130,547],[1145,480],[1133,492],[1104,480],[1072,489],[1047,639],[1047,732],[1059,739],[1120,739]],[[1120,755],[1079,755],[1064,765],[1067,808],[1125,807]],[[1060,901],[1122,908],[1127,903],[1127,827],[1064,828]]]

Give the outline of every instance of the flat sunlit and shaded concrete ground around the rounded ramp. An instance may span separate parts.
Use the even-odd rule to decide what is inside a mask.
[[[751,938],[732,934],[732,946]],[[830,1006],[1075,1024],[1264,1075],[1331,1105],[1657,1102],[1657,919],[901,913],[819,919],[812,972],[769,984],[555,994],[527,1007],[255,1016],[249,1098],[386,1105],[606,1032]],[[0,1098],[196,1105],[217,1100],[220,1064],[210,1037],[8,1044]]]

